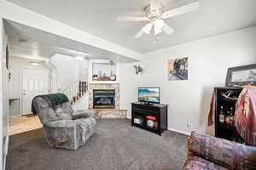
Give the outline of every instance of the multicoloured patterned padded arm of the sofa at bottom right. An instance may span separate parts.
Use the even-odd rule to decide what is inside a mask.
[[[230,169],[256,169],[256,147],[193,132],[189,151]]]

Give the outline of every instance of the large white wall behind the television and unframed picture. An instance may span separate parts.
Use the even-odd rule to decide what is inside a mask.
[[[167,59],[189,57],[189,81],[167,81]],[[144,54],[139,85],[160,87],[160,102],[169,105],[168,127],[207,131],[212,90],[224,86],[229,67],[256,63],[256,27]]]

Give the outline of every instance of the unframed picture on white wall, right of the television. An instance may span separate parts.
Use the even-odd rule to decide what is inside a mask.
[[[170,59],[167,64],[168,80],[188,80],[188,58]]]

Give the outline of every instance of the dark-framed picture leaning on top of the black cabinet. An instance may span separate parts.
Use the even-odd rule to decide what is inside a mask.
[[[256,85],[256,64],[231,67],[228,69],[226,86]]]

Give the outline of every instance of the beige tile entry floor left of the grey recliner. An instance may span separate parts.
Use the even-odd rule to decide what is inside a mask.
[[[42,127],[42,124],[38,116],[29,115],[10,118],[9,135],[25,133],[40,127]]]

